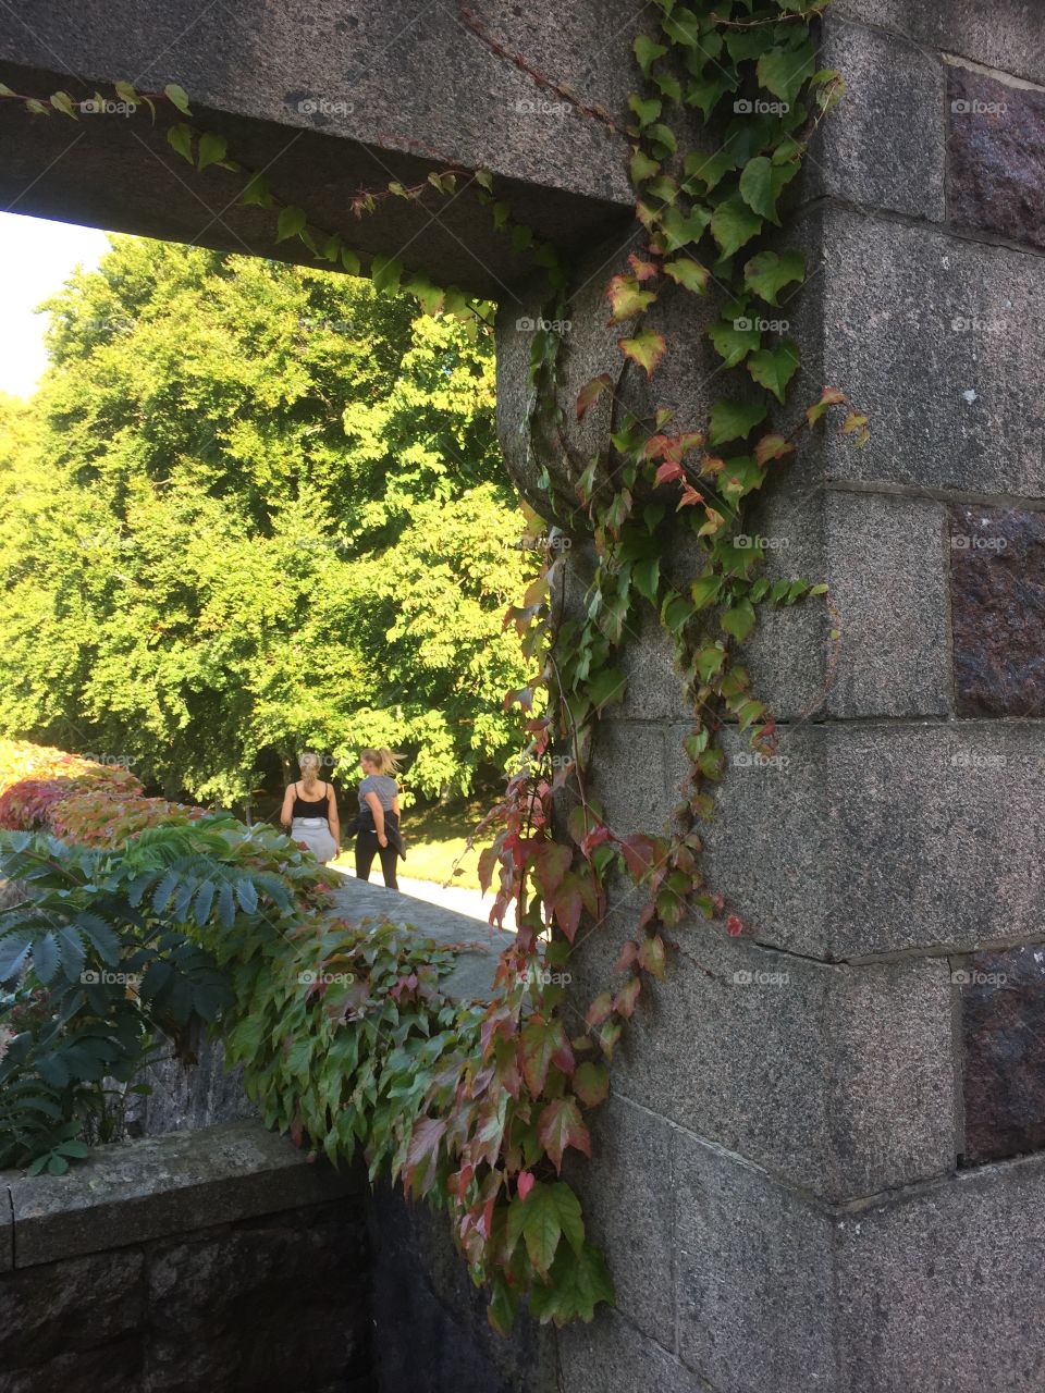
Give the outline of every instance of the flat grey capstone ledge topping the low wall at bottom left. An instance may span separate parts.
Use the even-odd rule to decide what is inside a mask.
[[[13,1268],[361,1192],[355,1169],[309,1163],[259,1121],[106,1146],[65,1176],[0,1173]]]

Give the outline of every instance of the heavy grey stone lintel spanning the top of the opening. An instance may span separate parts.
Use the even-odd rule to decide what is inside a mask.
[[[633,84],[631,36],[641,22],[626,0],[584,0],[568,15],[509,3],[483,6],[495,45],[529,53],[570,82],[580,100],[624,107]],[[40,10],[15,0],[0,31],[0,78],[45,98],[134,78],[142,91],[180,82],[199,128],[230,138],[274,192],[340,231],[364,254],[396,254],[497,299],[528,273],[489,212],[465,187],[419,203],[383,199],[351,216],[357,189],[390,180],[422,184],[460,166],[502,176],[499,195],[550,240],[585,245],[630,221],[627,143],[595,117],[553,99],[506,54],[461,24],[454,6],[366,0],[346,14],[337,0],[249,0],[201,8],[146,0]],[[592,45],[587,35],[605,33]],[[582,39],[581,35],[585,38]],[[71,123],[70,123],[71,124]],[[142,109],[91,116],[74,159],[70,131],[4,103],[0,130],[6,208],[224,251],[309,260],[304,244],[273,248],[273,215],[237,206],[242,178],[212,167],[187,182],[184,164]],[[181,166],[181,167],[180,167]],[[536,182],[534,182],[536,180]],[[188,192],[187,192],[188,189]]]

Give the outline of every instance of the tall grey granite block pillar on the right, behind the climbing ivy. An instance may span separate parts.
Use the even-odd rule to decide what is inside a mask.
[[[842,639],[807,605],[751,645],[779,755],[725,733],[706,833],[747,936],[688,924],[672,979],[644,985],[575,1176],[617,1309],[563,1333],[568,1393],[1045,1386],[1045,31],[1037,6],[998,11],[850,0],[823,26],[849,96],[789,234],[810,277],[783,309],[804,352],[786,419],[837,384],[872,439],[807,446],[751,532],[771,574],[829,582]],[[596,372],[644,390],[581,327],[594,294],[567,412]],[[701,311],[659,309],[658,400],[698,428],[718,391]],[[500,332],[506,453],[532,490],[524,345],[507,313]],[[686,578],[684,538],[665,564]],[[570,568],[582,589],[577,546]],[[672,655],[652,623],[630,641],[592,780],[620,832],[666,826],[687,772]],[[623,887],[585,942],[578,1003],[635,910]]]

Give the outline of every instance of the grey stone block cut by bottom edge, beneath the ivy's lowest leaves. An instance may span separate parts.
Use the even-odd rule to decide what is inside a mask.
[[[605,1307],[591,1325],[559,1332],[559,1362],[562,1393],[715,1393],[676,1355]]]

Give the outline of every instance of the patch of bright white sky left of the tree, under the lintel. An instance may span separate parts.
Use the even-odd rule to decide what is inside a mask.
[[[0,391],[28,397],[45,369],[47,316],[33,311],[75,270],[109,249],[106,233],[0,213]]]

